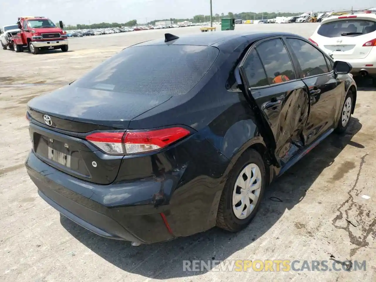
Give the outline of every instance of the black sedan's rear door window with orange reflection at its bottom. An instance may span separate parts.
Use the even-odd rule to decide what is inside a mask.
[[[271,84],[296,79],[293,64],[281,39],[262,42],[256,50]]]

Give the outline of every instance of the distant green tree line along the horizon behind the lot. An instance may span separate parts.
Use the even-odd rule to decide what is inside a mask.
[[[261,19],[271,19],[275,17],[293,17],[300,15],[302,13],[286,13],[286,12],[273,12],[273,13],[254,13],[254,12],[241,12],[241,13],[232,13],[228,12],[227,15],[215,14],[213,15],[213,21],[220,21],[222,18],[241,18],[242,20],[261,20]],[[189,21],[192,23],[204,23],[210,21],[210,15],[195,15],[192,18],[169,18],[162,20],[153,20],[149,21],[147,24],[154,25],[157,21],[171,21],[172,23],[179,23],[182,21]],[[67,25],[65,29],[97,29],[97,28],[110,28],[110,27],[120,27],[120,26],[137,26],[140,25],[137,23],[137,20],[127,21],[126,23],[97,23],[97,24],[76,24],[76,25]]]

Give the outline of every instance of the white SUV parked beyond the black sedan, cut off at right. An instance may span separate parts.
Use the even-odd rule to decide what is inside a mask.
[[[353,76],[370,76],[376,86],[376,14],[323,19],[309,38],[334,61],[349,62]]]

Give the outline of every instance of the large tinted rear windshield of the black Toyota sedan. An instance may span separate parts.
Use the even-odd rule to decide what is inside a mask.
[[[124,49],[74,84],[78,87],[147,95],[190,91],[217,58],[215,47],[147,45]]]

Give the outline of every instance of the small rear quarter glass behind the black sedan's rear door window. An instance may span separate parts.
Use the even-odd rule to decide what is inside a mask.
[[[252,52],[248,54],[242,67],[249,87],[260,87],[269,84],[264,67],[262,67],[256,50],[252,50]]]

